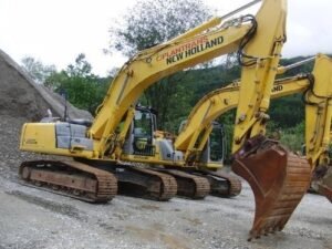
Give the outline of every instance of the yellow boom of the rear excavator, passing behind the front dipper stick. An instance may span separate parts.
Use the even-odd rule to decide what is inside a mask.
[[[308,75],[299,74],[293,77],[277,80],[271,91],[271,98],[304,92],[310,85],[308,77]],[[231,83],[226,87],[208,93],[195,105],[174,144],[176,149],[186,152],[186,159],[191,157],[193,153],[201,153],[207,139],[200,139],[197,143],[198,137],[208,138],[212,122],[224,113],[237,107],[239,89],[240,83]],[[206,135],[201,136],[203,132]]]

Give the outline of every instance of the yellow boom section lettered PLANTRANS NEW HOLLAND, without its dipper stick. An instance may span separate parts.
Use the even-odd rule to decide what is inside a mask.
[[[107,139],[145,89],[172,73],[238,50],[252,27],[239,22],[239,25],[229,23],[226,28],[157,45],[129,60],[113,80],[89,131],[90,136],[98,141],[95,149],[100,156],[104,155]]]

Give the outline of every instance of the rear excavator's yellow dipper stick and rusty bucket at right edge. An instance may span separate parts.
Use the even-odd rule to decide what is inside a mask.
[[[311,187],[332,203],[332,167],[331,154],[329,154],[332,118],[331,64],[331,59],[320,58],[310,87],[305,91],[304,101],[305,155],[314,170]]]

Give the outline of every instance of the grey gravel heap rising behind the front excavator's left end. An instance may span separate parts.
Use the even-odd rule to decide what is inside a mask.
[[[19,139],[25,122],[40,121],[48,108],[53,116],[64,114],[64,100],[37,84],[9,55],[0,50],[0,176],[14,179],[22,160],[53,158],[21,152]],[[92,115],[68,104],[70,118],[92,120]]]

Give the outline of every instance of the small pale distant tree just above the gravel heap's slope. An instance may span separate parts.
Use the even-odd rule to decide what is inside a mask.
[[[56,71],[55,65],[44,65],[41,61],[35,60],[32,56],[23,58],[21,63],[22,68],[29,73],[32,80],[39,84],[44,83],[45,79]]]

